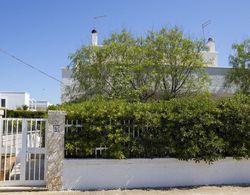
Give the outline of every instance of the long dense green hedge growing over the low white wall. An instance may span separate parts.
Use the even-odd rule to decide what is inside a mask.
[[[213,162],[250,156],[250,97],[207,96],[151,103],[93,100],[64,104],[68,120],[80,120],[66,134],[68,157],[174,157]],[[131,131],[135,129],[135,135]],[[129,133],[130,132],[130,133]]]

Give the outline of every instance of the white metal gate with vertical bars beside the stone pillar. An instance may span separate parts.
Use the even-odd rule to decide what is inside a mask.
[[[0,186],[43,186],[46,119],[0,119]]]

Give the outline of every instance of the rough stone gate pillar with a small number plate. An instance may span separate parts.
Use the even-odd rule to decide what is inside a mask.
[[[62,164],[64,159],[65,112],[48,112],[47,144],[47,188],[62,189]]]

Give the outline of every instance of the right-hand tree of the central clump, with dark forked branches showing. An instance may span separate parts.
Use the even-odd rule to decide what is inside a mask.
[[[151,32],[146,39],[153,48],[154,64],[159,67],[164,99],[197,93],[206,87],[208,78],[201,56],[206,48],[202,41],[185,37],[177,27]]]

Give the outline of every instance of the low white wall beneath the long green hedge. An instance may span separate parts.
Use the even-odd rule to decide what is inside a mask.
[[[250,184],[250,160],[226,158],[209,165],[174,158],[65,159],[62,183],[64,190]]]

